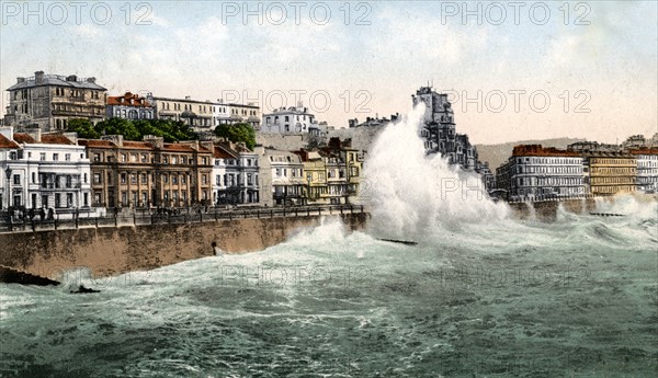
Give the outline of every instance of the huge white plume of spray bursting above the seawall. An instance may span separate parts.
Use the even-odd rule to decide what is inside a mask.
[[[476,173],[426,154],[418,128],[424,104],[388,124],[367,156],[364,175],[372,211],[371,231],[397,239],[422,238],[436,228],[508,217],[504,204],[491,202]]]

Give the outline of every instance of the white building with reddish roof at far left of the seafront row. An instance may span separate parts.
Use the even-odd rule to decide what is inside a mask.
[[[91,206],[90,161],[75,134],[13,133],[1,127],[9,149],[0,161],[4,172],[2,207],[55,208],[57,213]]]

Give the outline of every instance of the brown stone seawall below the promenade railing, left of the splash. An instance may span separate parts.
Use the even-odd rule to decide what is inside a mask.
[[[363,229],[368,214],[234,219],[182,225],[80,228],[0,234],[0,264],[53,279],[67,270],[89,268],[93,277],[151,270],[192,259],[260,251],[281,243],[321,218],[340,218]]]

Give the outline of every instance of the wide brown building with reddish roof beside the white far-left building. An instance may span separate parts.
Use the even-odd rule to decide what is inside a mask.
[[[93,206],[189,207],[212,204],[213,153],[195,144],[106,136],[81,139],[91,160]]]

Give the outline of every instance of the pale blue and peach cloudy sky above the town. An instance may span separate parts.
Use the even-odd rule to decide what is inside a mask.
[[[3,90],[43,70],[347,127],[429,83],[475,144],[658,131],[656,1],[0,3]]]

